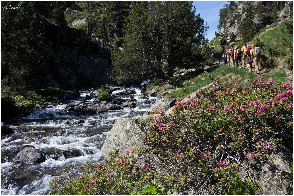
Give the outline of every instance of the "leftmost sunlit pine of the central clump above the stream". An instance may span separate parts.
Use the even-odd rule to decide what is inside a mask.
[[[111,52],[111,78],[118,83],[139,82],[152,70],[152,43],[148,35],[150,29],[149,5],[147,1],[134,2],[130,21],[124,30],[123,50],[114,46]]]

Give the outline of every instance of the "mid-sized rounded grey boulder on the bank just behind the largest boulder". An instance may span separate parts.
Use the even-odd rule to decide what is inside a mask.
[[[166,111],[169,108],[173,107],[176,103],[175,98],[162,98],[161,100],[158,100],[156,103],[154,103],[149,110],[147,110],[146,114],[151,115],[151,114],[158,114],[159,110]]]

